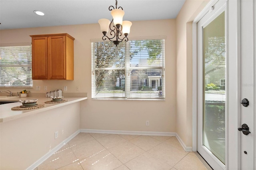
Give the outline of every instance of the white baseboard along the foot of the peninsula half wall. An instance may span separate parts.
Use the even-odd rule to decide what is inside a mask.
[[[63,140],[60,144],[58,144],[55,148],[53,148],[50,152],[42,156],[39,160],[37,160],[34,164],[32,164],[30,167],[27,168],[27,170],[34,170],[36,167],[38,167],[40,164],[42,164],[46,159],[48,159],[52,154],[57,152],[62,146],[64,146],[66,143],[68,143],[72,138],[74,138],[78,133],[80,133],[80,130],[77,130],[74,132],[71,136]]]

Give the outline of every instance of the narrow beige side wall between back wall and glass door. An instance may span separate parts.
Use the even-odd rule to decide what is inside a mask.
[[[192,21],[209,0],[186,0],[176,18],[176,132],[192,147]]]

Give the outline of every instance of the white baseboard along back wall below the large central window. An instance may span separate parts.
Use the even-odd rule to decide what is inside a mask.
[[[96,129],[80,129],[80,132],[109,133],[109,134],[138,134],[138,135],[154,135],[154,136],[176,136],[176,133],[174,133],[174,132],[145,132],[145,131],[96,130]]]

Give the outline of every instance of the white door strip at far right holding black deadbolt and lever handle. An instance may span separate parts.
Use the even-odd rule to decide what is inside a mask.
[[[247,98],[248,107],[241,105],[239,127],[247,124],[251,134],[240,133],[241,169],[255,169],[255,0],[241,0],[241,98]]]

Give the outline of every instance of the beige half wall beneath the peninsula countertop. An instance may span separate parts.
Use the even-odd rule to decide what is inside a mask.
[[[77,132],[80,128],[79,104],[0,123],[0,169],[25,170]]]

